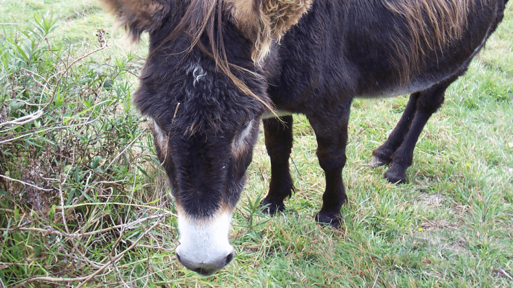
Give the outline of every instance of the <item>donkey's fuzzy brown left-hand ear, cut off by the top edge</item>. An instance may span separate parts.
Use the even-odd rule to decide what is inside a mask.
[[[139,40],[144,31],[159,29],[170,6],[166,0],[101,0],[107,11],[114,14],[120,26],[129,31],[132,41]]]

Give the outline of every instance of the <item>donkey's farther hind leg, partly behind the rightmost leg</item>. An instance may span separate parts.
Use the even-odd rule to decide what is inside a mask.
[[[378,148],[372,151],[372,160],[369,165],[371,167],[378,167],[381,165],[390,165],[392,163],[392,154],[396,152],[397,148],[403,144],[404,138],[410,129],[411,121],[415,116],[415,110],[417,109],[417,99],[419,98],[420,92],[416,92],[410,95],[406,109],[401,116],[401,119],[397,123],[396,127],[393,128],[388,139],[381,144]]]

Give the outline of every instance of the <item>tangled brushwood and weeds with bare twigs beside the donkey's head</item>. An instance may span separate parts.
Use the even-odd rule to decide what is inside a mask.
[[[0,287],[101,279],[123,256],[155,249],[149,233],[172,216],[164,195],[133,195],[154,189],[157,171],[151,127],[130,104],[136,61],[105,58],[103,29],[91,48],[63,45],[55,23],[36,16],[0,35]],[[127,279],[117,281],[144,282]]]

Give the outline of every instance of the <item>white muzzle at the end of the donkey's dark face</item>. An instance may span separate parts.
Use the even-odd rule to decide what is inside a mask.
[[[176,254],[182,264],[191,270],[209,264],[224,267],[226,257],[233,253],[228,242],[231,215],[230,211],[221,211],[211,219],[195,220],[179,211],[180,244]]]

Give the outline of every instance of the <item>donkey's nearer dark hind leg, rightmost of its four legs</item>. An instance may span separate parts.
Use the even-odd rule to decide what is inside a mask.
[[[390,183],[406,182],[406,168],[411,165],[413,160],[413,149],[415,149],[419,135],[429,117],[442,106],[445,90],[456,78],[458,77],[453,76],[419,93],[415,116],[411,121],[410,128],[401,146],[392,154],[391,166],[385,173],[385,179]]]

